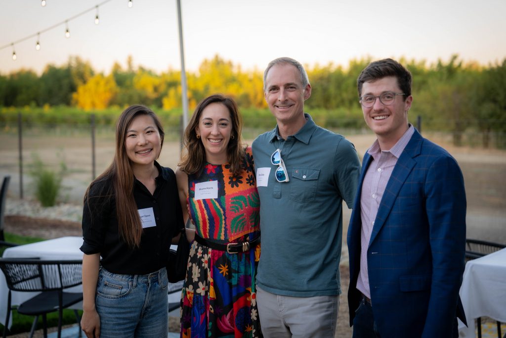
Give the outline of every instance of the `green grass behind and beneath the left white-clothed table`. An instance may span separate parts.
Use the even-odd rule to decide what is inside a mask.
[[[40,241],[45,241],[44,238],[37,238],[37,237],[28,237],[28,236],[20,236],[15,235],[11,233],[5,233],[5,240],[7,242],[16,243],[16,244],[30,244]],[[3,249],[2,252],[3,254]],[[79,316],[82,316],[82,311],[78,311]],[[33,319],[35,317],[33,316],[26,316],[19,314],[16,310],[12,311],[11,314],[12,318],[12,326],[9,330],[9,334],[17,334],[17,333],[23,333],[23,332],[29,332],[31,329],[31,325],[33,323]],[[5,320],[5,318],[2,318],[2,320]],[[48,327],[54,327],[58,326],[58,312],[52,312],[47,315],[48,320]],[[63,325],[67,324],[74,324],[75,321],[75,314],[73,310],[64,309],[63,310]],[[43,328],[42,323],[42,317],[39,317],[37,321],[37,330]],[[4,325],[0,324],[0,332],[4,331]]]

